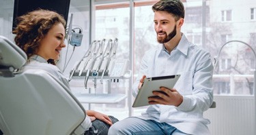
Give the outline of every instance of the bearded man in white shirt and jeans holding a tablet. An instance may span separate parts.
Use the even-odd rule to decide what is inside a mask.
[[[184,5],[179,0],[158,1],[152,7],[157,47],[145,52],[139,77],[133,88],[136,96],[145,77],[180,74],[174,88],[153,92],[151,104],[139,117],[128,117],[109,129],[109,134],[210,134],[203,111],[213,101],[213,66],[210,54],[190,43],[181,32]],[[139,87],[138,87],[139,85]]]

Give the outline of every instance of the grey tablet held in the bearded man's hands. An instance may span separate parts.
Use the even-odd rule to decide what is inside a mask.
[[[159,90],[160,87],[172,89],[179,78],[180,75],[145,78],[143,85],[141,86],[141,89],[139,90],[139,93],[132,104],[132,107],[143,107],[150,105],[147,98],[154,96],[152,94],[153,91]]]

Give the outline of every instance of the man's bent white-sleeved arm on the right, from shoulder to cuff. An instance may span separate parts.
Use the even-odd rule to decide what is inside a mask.
[[[183,96],[183,102],[177,108],[182,111],[209,109],[213,101],[212,75],[212,60],[210,60],[210,54],[206,53],[197,63],[193,76],[192,95]]]

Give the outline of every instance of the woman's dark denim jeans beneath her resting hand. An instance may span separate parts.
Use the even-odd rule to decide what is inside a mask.
[[[111,119],[112,123],[115,123],[118,121],[118,119],[113,116],[109,116],[109,118]],[[110,128],[109,124],[96,119],[95,121],[92,121],[91,128],[89,128],[89,130],[87,130],[84,135],[91,135],[91,134],[106,135],[108,134],[109,128]]]

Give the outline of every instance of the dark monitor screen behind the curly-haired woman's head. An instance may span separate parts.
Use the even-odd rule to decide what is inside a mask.
[[[18,16],[22,16],[27,12],[31,12],[39,8],[55,11],[61,14],[67,22],[70,0],[15,0],[12,30],[16,28],[16,18]]]

